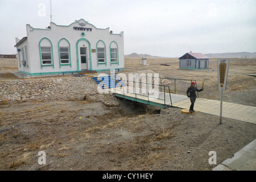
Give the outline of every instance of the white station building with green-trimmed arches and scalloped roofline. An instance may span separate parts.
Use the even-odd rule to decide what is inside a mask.
[[[96,28],[84,19],[68,26],[53,22],[46,29],[26,25],[27,36],[16,38],[19,72],[49,75],[76,71],[124,69],[123,32]]]

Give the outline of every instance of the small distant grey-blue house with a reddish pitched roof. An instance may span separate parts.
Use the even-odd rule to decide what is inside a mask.
[[[180,69],[204,69],[209,67],[209,57],[203,53],[189,52],[179,58]]]

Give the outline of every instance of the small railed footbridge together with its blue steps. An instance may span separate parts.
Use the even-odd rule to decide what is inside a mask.
[[[174,103],[187,99],[187,96],[176,94],[186,92],[192,80],[175,78],[155,78],[135,75],[135,81],[126,81],[116,75],[93,77],[98,86],[108,89],[117,97],[141,102],[143,104],[168,107]],[[156,81],[159,81],[155,84]]]

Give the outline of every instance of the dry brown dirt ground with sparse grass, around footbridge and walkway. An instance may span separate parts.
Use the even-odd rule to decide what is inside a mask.
[[[207,71],[180,70],[177,59],[148,59],[148,66],[140,61],[127,58],[126,69],[204,81],[200,97],[220,97],[217,60]],[[0,60],[0,80],[18,79],[10,73],[16,65]],[[254,59],[231,60],[224,101],[255,106],[255,77],[243,75],[256,74],[255,68]],[[216,115],[183,114],[179,108],[159,113],[157,107],[112,99],[119,105],[82,98],[0,105],[0,169],[210,170],[256,137],[253,123],[223,118],[218,125]],[[46,164],[38,164],[39,151],[46,152]],[[216,151],[217,164],[209,164],[210,151]]]

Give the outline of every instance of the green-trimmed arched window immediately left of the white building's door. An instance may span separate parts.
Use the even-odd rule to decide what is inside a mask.
[[[65,65],[70,65],[71,67],[71,51],[70,51],[70,43],[67,39],[62,38],[58,43],[59,47],[59,61],[60,67]]]

